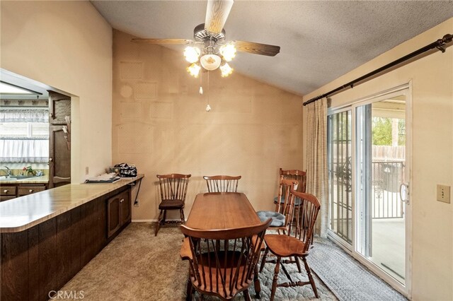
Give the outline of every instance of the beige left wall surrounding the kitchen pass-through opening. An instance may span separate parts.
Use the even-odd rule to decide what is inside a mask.
[[[111,163],[112,29],[88,1],[1,1],[1,68],[71,93],[72,182]]]

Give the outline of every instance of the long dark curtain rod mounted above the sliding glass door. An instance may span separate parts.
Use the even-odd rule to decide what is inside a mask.
[[[421,47],[420,49],[415,50],[414,52],[411,52],[410,54],[407,54],[404,57],[400,57],[399,59],[396,59],[395,61],[392,61],[391,63],[386,64],[385,66],[382,66],[381,68],[378,68],[378,69],[376,69],[374,71],[371,71],[371,72],[365,74],[364,76],[360,76],[360,78],[355,78],[354,81],[350,81],[349,83],[345,83],[344,85],[340,85],[340,87],[338,87],[336,89],[333,89],[331,91],[328,91],[328,93],[324,93],[324,94],[318,95],[318,96],[316,96],[316,98],[311,98],[311,100],[307,100],[306,102],[304,102],[303,105],[305,106],[305,105],[308,105],[311,102],[315,102],[316,100],[320,100],[321,98],[326,98],[329,95],[338,93],[340,90],[343,90],[343,89],[346,89],[346,88],[354,88],[354,85],[356,83],[360,83],[361,81],[364,81],[365,79],[367,79],[369,77],[372,77],[372,76],[376,75],[377,73],[381,73],[382,71],[385,71],[386,69],[389,69],[389,68],[394,67],[394,66],[396,66],[398,64],[401,64],[404,61],[408,61],[409,59],[412,59],[413,57],[417,57],[418,55],[423,54],[424,52],[427,52],[428,50],[437,48],[443,53],[443,52],[445,52],[444,45],[449,43],[449,42],[452,42],[452,40],[453,40],[453,35],[451,35],[451,34],[444,35],[442,37],[442,39],[439,39],[439,40],[437,40],[435,42],[432,42],[431,44],[426,45],[425,47]]]

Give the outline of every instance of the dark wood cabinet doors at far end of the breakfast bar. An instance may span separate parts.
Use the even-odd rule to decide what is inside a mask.
[[[112,196],[107,200],[108,213],[108,235],[110,238],[131,219],[130,190],[122,191],[120,194]]]

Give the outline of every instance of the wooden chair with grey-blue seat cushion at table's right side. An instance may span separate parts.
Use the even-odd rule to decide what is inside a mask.
[[[294,198],[290,194],[290,191],[297,188],[299,182],[294,179],[283,179],[280,177],[280,184],[278,187],[278,198],[282,199],[282,202],[277,202],[275,211],[258,211],[258,217],[263,222],[268,218],[272,218],[270,224],[270,230],[277,230],[277,232],[287,232],[288,228],[292,225],[292,211],[294,211]]]

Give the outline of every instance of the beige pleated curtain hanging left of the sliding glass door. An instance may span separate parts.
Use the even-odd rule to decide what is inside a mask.
[[[321,203],[316,234],[327,236],[328,170],[327,170],[327,98],[306,105],[306,191]]]

